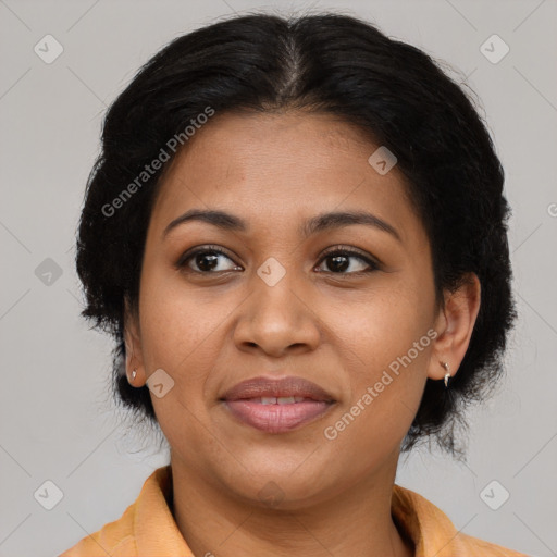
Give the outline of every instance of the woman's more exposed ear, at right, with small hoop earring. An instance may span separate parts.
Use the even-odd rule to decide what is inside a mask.
[[[444,294],[445,304],[437,315],[428,377],[441,380],[447,371],[441,362],[448,364],[455,375],[470,344],[475,320],[480,311],[481,284],[475,273],[469,273],[456,292]]]

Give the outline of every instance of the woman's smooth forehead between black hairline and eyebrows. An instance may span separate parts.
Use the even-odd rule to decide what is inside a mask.
[[[412,234],[420,223],[401,173],[395,165],[381,175],[368,162],[377,147],[331,114],[216,114],[166,169],[152,225],[162,228],[193,207],[227,210],[261,227],[368,209]]]

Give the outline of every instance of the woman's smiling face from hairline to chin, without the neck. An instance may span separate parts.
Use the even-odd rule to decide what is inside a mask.
[[[126,342],[145,380],[163,370],[151,398],[173,466],[223,493],[257,502],[274,482],[299,507],[394,474],[445,373],[429,239],[376,148],[326,114],[218,114],[164,175]],[[191,210],[231,216],[168,228]],[[336,212],[372,216],[317,221]],[[223,400],[285,376],[330,401]]]

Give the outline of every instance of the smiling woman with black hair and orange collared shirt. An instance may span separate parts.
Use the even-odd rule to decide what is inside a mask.
[[[467,557],[396,484],[458,455],[516,318],[504,175],[472,102],[357,18],[177,38],[110,108],[78,231],[83,315],[169,466],[64,557]]]

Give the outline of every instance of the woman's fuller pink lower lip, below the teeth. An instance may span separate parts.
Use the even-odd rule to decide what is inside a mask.
[[[306,400],[286,405],[263,405],[252,400],[225,400],[232,414],[267,433],[286,433],[324,414],[331,403]]]

